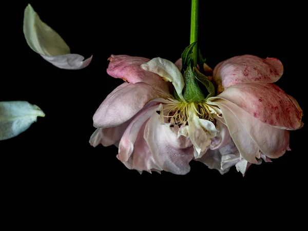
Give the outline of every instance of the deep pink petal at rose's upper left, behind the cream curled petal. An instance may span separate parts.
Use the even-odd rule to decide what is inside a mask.
[[[158,74],[145,71],[141,68],[141,64],[145,64],[149,59],[144,57],[135,57],[129,55],[111,55],[107,73],[113,78],[120,78],[128,83],[144,82],[151,86],[169,92],[170,84],[161,80]]]

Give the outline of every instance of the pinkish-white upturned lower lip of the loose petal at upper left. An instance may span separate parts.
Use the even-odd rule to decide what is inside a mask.
[[[47,56],[41,54],[41,56],[52,65],[67,70],[83,69],[92,61],[92,56],[85,60],[85,57],[80,54],[64,54],[58,56]]]

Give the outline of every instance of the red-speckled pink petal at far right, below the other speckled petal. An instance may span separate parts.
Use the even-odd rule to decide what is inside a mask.
[[[302,110],[275,84],[237,84],[229,87],[217,98],[235,103],[253,117],[273,127],[288,130],[301,127]]]

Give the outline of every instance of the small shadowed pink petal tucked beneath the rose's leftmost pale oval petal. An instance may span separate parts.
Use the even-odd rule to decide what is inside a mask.
[[[90,145],[96,147],[99,144],[102,144],[104,147],[108,147],[116,144],[121,140],[121,137],[130,122],[131,120],[116,127],[97,128],[89,140]]]

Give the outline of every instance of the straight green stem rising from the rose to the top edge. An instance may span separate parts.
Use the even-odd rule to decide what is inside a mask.
[[[190,18],[190,44],[198,41],[198,6],[199,0],[191,0],[191,18]],[[198,44],[194,46],[192,51],[192,60],[194,66],[197,67]]]

